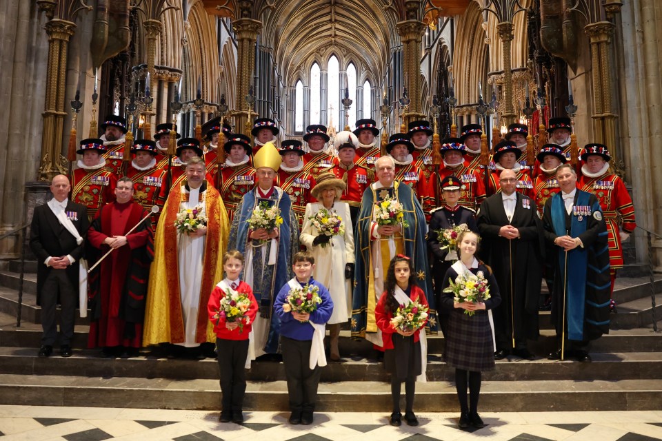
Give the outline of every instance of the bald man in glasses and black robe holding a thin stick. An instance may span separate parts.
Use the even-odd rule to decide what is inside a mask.
[[[499,175],[501,192],[485,199],[478,214],[481,255],[492,267],[501,293],[501,305],[492,311],[496,360],[511,351],[533,360],[526,342],[539,336],[543,234],[536,203],[515,191],[517,183],[513,170],[503,170]]]

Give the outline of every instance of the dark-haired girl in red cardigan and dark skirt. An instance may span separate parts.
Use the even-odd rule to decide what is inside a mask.
[[[428,307],[428,300],[425,298],[423,290],[416,285],[410,258],[402,254],[392,258],[388,265],[384,289],[377,307],[374,309],[374,316],[383,339],[386,371],[391,374],[393,412],[390,424],[392,426],[402,424],[400,388],[401,383],[404,382],[405,421],[410,426],[417,426],[419,420],[414,415],[414,391],[417,376],[421,375],[421,372],[425,372],[423,364],[426,355],[425,351],[421,351],[421,338],[425,339],[425,322],[427,320],[421,327],[412,331],[394,329],[390,322],[398,307],[406,305],[410,301],[418,300],[421,305]],[[423,334],[421,334],[421,329]]]

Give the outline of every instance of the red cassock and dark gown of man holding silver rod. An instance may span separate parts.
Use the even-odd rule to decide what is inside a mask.
[[[99,250],[98,257],[110,249],[103,244],[106,238],[126,236],[127,240],[90,275],[90,348],[141,347],[152,226],[146,220],[131,234],[126,233],[147,214],[139,203],[110,203],[99,210],[90,225],[88,241]]]

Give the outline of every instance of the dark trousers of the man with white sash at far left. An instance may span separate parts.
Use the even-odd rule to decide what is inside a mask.
[[[58,340],[57,298],[60,298],[60,345],[71,345],[74,337],[74,320],[78,289],[67,277],[66,269],[51,269],[41,289],[41,344],[52,346]]]

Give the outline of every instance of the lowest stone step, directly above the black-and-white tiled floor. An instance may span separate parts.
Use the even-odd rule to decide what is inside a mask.
[[[3,375],[0,404],[218,410],[218,380],[90,378]],[[457,411],[454,383],[417,383],[419,412]],[[490,381],[481,386],[481,411],[641,411],[662,407],[660,380]],[[287,411],[285,381],[248,382],[245,411]],[[376,381],[321,382],[317,411],[386,412],[390,384]]]

